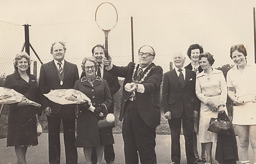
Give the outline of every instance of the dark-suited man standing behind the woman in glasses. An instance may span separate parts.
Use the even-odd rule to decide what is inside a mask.
[[[105,66],[102,64],[102,57],[104,56],[104,50],[105,50],[104,46],[96,45],[96,46],[93,47],[91,52],[93,53],[93,56],[96,58],[96,60],[99,64],[97,75],[108,82],[110,94],[111,94],[111,97],[112,97],[112,100],[113,100],[113,102],[112,102],[110,108],[108,109],[108,111],[109,111],[109,113],[114,113],[114,98],[113,98],[113,95],[116,94],[116,92],[120,89],[120,84],[119,84],[117,76],[113,76],[110,73],[108,73]],[[82,72],[80,79],[84,75],[85,75],[85,73]],[[113,136],[112,128],[110,129],[109,135]],[[107,164],[114,164],[115,153],[114,153],[113,144],[105,145],[104,159],[105,159]],[[95,147],[93,148],[91,161],[92,161],[92,164],[97,163],[97,156],[96,156]]]

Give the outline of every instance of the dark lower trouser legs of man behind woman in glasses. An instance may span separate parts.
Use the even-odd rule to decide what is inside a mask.
[[[104,159],[106,163],[113,162],[115,160],[115,152],[113,144],[105,145],[104,147]],[[91,153],[91,162],[97,163],[97,153],[95,147],[93,147],[93,152]]]

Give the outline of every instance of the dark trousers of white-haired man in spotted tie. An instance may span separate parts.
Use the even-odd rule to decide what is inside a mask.
[[[185,109],[183,109],[182,115],[180,118],[172,118],[168,120],[169,127],[171,130],[171,142],[172,142],[172,153],[171,158],[172,162],[177,164],[180,163],[180,132],[181,132],[181,121],[182,129],[185,137],[185,150],[187,163],[192,164],[196,158],[193,150],[193,118],[187,117]]]

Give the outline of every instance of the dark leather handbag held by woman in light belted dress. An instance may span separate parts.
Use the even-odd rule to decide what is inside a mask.
[[[227,121],[226,118],[225,120],[220,120],[218,117],[211,118],[210,126],[207,130],[221,135],[230,135],[232,130],[232,123],[230,121]]]

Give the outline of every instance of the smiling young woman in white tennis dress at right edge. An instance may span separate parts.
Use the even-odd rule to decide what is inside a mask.
[[[230,57],[236,65],[227,72],[228,95],[235,105],[232,123],[239,137],[242,164],[249,164],[249,142],[256,163],[256,67],[247,63],[246,56],[244,45],[231,46]]]

